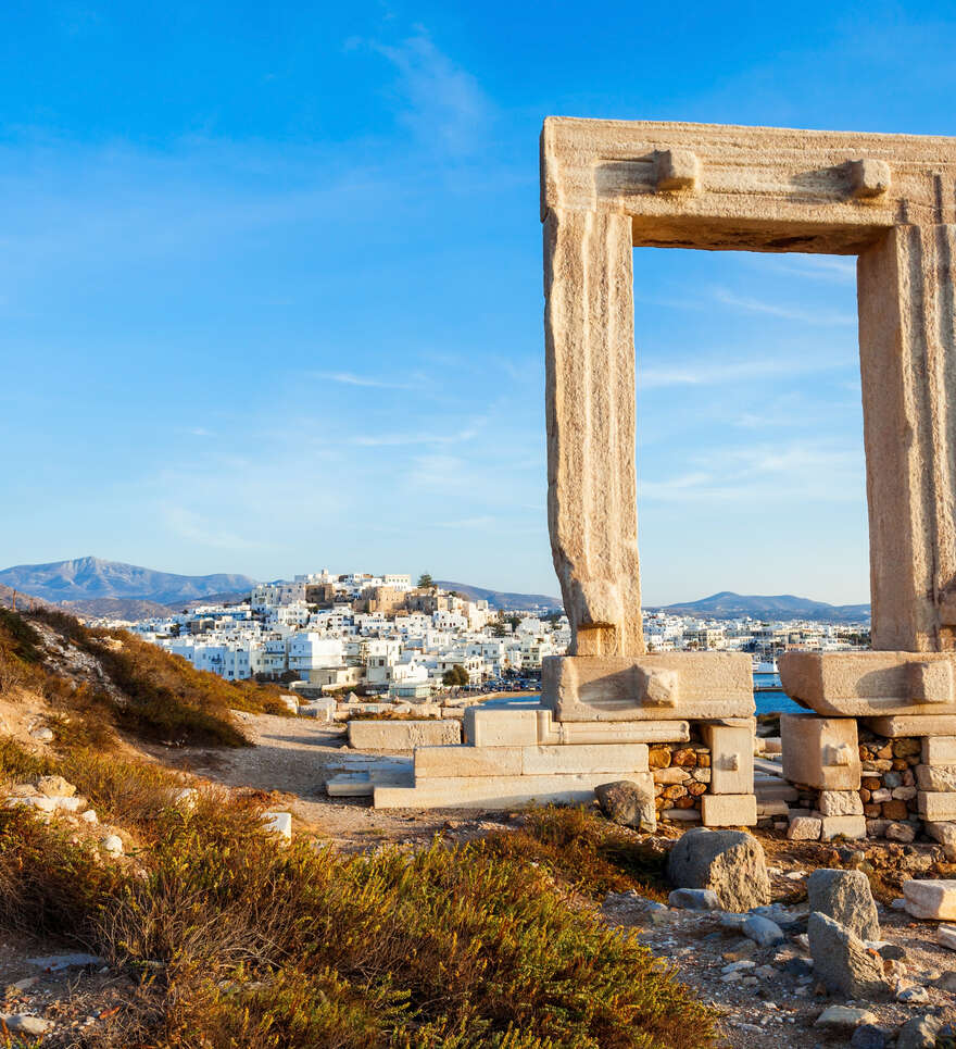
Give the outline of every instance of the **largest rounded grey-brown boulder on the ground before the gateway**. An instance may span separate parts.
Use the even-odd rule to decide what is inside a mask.
[[[770,901],[764,849],[743,831],[688,831],[670,850],[667,875],[678,888],[713,889],[728,911]]]

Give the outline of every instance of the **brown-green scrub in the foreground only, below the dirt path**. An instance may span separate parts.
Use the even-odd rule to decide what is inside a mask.
[[[73,771],[90,795],[115,797],[95,763]],[[139,874],[95,862],[26,810],[0,811],[0,923],[139,974],[90,1047],[712,1044],[713,1014],[537,861],[493,841],[358,857],[305,840],[277,849],[251,803],[203,794],[183,811],[165,803],[166,783],[153,789],[148,817],[140,802],[151,829]],[[544,829],[554,811],[536,826],[557,851]]]

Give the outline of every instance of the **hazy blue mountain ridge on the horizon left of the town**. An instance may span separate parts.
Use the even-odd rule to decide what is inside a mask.
[[[255,580],[246,575],[175,575],[101,558],[18,564],[0,572],[0,586],[24,590],[56,604],[114,598],[165,605],[194,601],[209,594],[248,591],[254,585]]]

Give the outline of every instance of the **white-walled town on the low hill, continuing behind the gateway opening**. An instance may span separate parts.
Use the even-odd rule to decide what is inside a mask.
[[[424,585],[423,585],[424,584]],[[102,622],[102,621],[99,621]],[[499,611],[486,600],[410,575],[323,571],[255,586],[240,603],[203,603],[129,626],[146,640],[228,680],[304,683],[309,691],[357,689],[423,700],[464,685],[531,687],[541,661],[565,653],[567,617],[536,607]],[[649,651],[725,650],[760,663],[789,649],[838,651],[866,645],[867,624],[702,620],[649,612]]]

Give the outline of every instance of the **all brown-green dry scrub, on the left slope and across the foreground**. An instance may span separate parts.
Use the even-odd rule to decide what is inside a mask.
[[[135,991],[46,1045],[713,1044],[713,1012],[589,902],[655,884],[657,858],[624,832],[549,809],[513,835],[454,848],[347,856],[305,836],[280,848],[263,829],[264,796],[204,787],[193,807],[177,804],[187,777],[99,742],[120,730],[235,742],[229,708],[274,692],[211,683],[135,638],[74,623],[0,620],[4,698],[30,688],[62,719],[53,748],[0,739],[0,784],[62,775],[130,846],[108,860],[75,823],[0,808],[0,928],[103,956]],[[37,625],[95,653],[124,701],[51,671]]]

